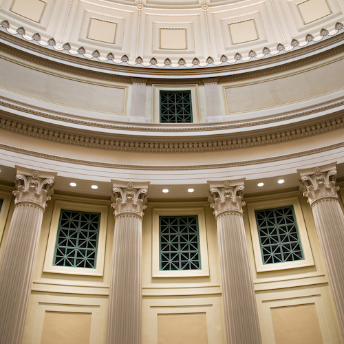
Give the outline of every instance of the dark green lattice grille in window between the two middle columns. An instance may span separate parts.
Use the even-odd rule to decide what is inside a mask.
[[[197,216],[160,216],[160,270],[200,270]]]

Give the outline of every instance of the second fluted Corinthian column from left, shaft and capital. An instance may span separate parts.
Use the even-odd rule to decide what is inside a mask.
[[[142,217],[148,184],[112,180],[115,215],[107,344],[140,344]]]

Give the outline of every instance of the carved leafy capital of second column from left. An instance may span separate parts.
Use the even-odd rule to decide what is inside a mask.
[[[122,182],[111,180],[115,218],[123,213],[131,213],[143,217],[143,211],[147,206],[147,193],[149,182]]]

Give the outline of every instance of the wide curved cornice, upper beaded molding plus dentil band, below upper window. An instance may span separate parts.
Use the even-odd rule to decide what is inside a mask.
[[[269,144],[277,144],[281,142],[289,142],[292,140],[299,140],[301,138],[308,138],[316,136],[322,133],[327,133],[337,129],[342,129],[344,127],[344,118],[341,117],[341,113],[337,112],[334,115],[327,115],[325,118],[319,118],[319,122],[314,123],[312,120],[312,125],[309,125],[307,121],[305,122],[296,122],[294,125],[289,125],[288,130],[286,127],[279,129],[275,128],[266,128],[264,131],[255,131],[255,134],[250,134],[249,131],[246,131],[246,135],[243,136],[243,133],[240,136],[236,136],[235,133],[226,133],[228,129],[236,129],[240,127],[255,127],[256,125],[264,125],[273,120],[279,121],[288,120],[291,118],[308,116],[310,114],[316,114],[316,112],[325,111],[328,109],[335,109],[336,107],[341,107],[344,105],[344,101],[338,102],[336,104],[327,105],[325,107],[320,107],[314,109],[313,111],[304,111],[298,114],[293,114],[289,116],[282,116],[281,118],[273,118],[268,120],[257,120],[252,122],[244,122],[234,125],[213,125],[210,126],[200,126],[200,127],[182,127],[178,130],[175,128],[176,132],[188,132],[193,131],[223,131],[226,135],[219,134],[217,139],[207,138],[204,135],[203,138],[197,138],[197,140],[190,140],[184,136],[175,136],[173,138],[166,136],[164,138],[150,138],[135,136],[135,131],[150,131],[154,133],[166,131],[174,132],[173,130],[168,130],[166,127],[160,126],[130,126],[130,125],[105,125],[103,123],[94,123],[87,122],[83,120],[72,120],[70,118],[61,118],[59,116],[44,114],[39,111],[32,111],[17,105],[8,104],[0,101],[0,105],[6,106],[10,109],[15,109],[21,112],[27,112],[34,114],[36,116],[53,118],[54,120],[61,120],[63,122],[72,122],[78,125],[85,125],[87,127],[98,127],[98,128],[107,128],[107,129],[119,129],[125,131],[133,131],[133,138],[130,139],[126,136],[125,140],[121,138],[120,133],[107,136],[104,133],[98,133],[94,135],[85,135],[85,131],[78,131],[74,129],[73,133],[69,131],[67,127],[59,126],[52,130],[52,127],[46,127],[44,122],[37,122],[25,118],[25,122],[19,116],[13,116],[12,114],[0,114],[0,128],[6,131],[12,131],[14,133],[19,133],[25,136],[31,136],[34,138],[40,138],[43,140],[54,141],[63,144],[73,144],[81,147],[94,148],[94,149],[107,149],[107,150],[116,150],[116,151],[133,151],[133,152],[145,152],[145,153],[194,153],[194,152],[208,152],[208,151],[226,151],[233,149],[246,149],[249,147],[261,147]],[[338,116],[338,117],[334,117]],[[16,120],[17,119],[17,120]],[[203,130],[202,130],[203,128]],[[151,129],[151,130],[149,130]],[[252,128],[254,129],[254,128]],[[264,134],[263,134],[264,133]],[[175,140],[178,138],[178,141]],[[174,140],[173,140],[174,139]],[[174,142],[173,142],[174,141]]]

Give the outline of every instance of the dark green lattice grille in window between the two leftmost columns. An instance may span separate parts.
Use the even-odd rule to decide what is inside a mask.
[[[55,266],[96,268],[100,214],[61,210]]]

